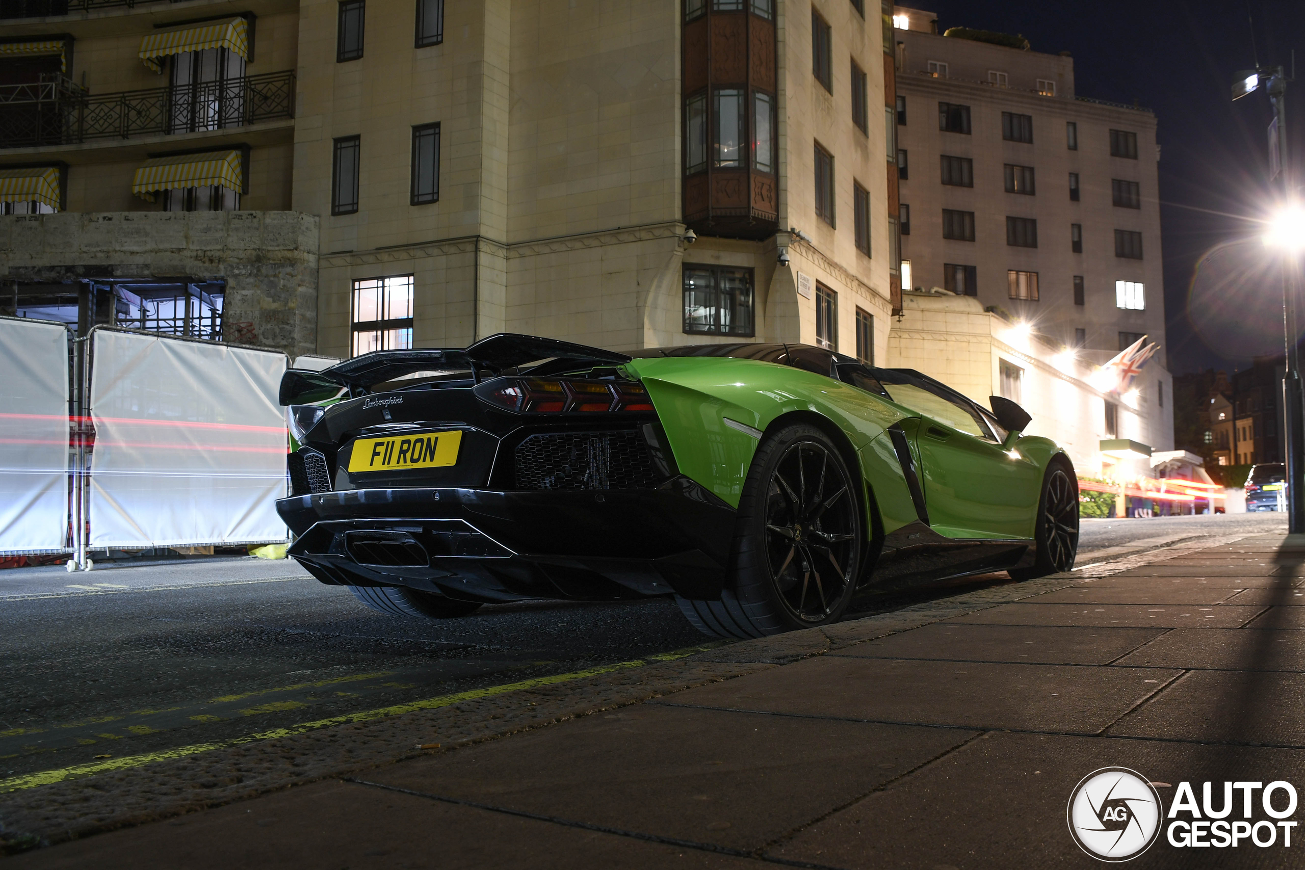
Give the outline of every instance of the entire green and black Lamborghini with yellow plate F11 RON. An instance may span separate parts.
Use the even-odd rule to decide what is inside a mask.
[[[290,554],[393,614],[675,595],[746,638],[1078,547],[1074,468],[1018,404],[804,344],[495,335],[291,369],[281,402]]]

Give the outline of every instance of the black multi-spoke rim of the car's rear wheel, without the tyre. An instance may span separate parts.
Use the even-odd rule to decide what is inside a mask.
[[[834,450],[790,445],[766,497],[766,562],[790,616],[818,625],[834,613],[853,580],[856,532],[856,496]]]

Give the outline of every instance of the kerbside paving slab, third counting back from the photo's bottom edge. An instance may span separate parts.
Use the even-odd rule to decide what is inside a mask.
[[[1181,670],[983,661],[857,659],[831,653],[677,693],[658,703],[859,721],[1095,733]]]

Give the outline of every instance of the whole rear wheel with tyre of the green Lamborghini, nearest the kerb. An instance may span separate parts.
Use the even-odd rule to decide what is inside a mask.
[[[744,481],[720,600],[676,596],[689,622],[722,638],[838,622],[852,600],[863,552],[855,480],[816,427],[767,436]]]

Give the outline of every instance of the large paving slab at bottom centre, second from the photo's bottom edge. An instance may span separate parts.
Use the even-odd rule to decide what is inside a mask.
[[[643,704],[394,766],[368,779],[752,850],[975,736]]]

